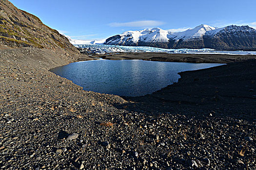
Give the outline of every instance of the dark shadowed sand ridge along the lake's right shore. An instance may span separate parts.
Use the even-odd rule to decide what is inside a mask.
[[[179,75],[177,83],[153,94],[124,99],[141,103],[145,109],[154,105],[159,110],[172,112],[173,105],[186,105],[201,113],[217,109],[222,110],[222,116],[256,121],[256,60],[185,71]]]

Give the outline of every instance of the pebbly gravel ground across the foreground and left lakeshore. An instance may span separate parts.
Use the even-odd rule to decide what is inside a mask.
[[[0,169],[256,170],[253,106],[83,91],[48,71],[68,62],[39,49],[0,51]]]

